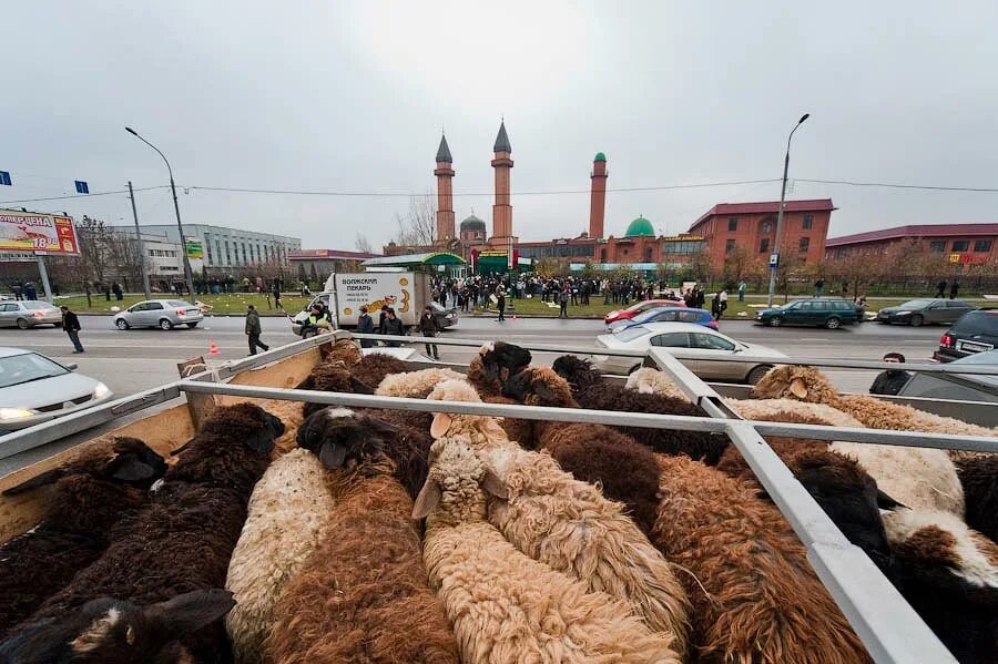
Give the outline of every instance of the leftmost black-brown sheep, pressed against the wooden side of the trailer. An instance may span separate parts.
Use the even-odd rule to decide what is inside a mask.
[[[0,639],[100,556],[109,529],[147,501],[164,472],[166,462],[144,442],[115,438],[3,492],[55,484],[41,523],[0,546]]]

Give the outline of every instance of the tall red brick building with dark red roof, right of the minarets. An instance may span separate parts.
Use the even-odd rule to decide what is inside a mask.
[[[711,263],[720,268],[735,247],[744,247],[750,256],[768,263],[776,238],[776,213],[780,202],[719,203],[690,226],[689,234],[706,239]],[[783,213],[780,252],[816,263],[825,256],[828,224],[832,221],[831,198],[787,201]]]

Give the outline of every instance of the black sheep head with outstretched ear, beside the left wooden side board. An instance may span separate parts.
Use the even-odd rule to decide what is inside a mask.
[[[141,489],[149,487],[166,472],[163,457],[138,438],[115,438],[110,450],[84,456],[74,462],[37,474],[11,487],[3,496],[24,493],[38,487],[59,481],[74,474],[89,474],[110,482],[124,482]]]

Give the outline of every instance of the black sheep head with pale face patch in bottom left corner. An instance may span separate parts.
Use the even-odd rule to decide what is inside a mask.
[[[183,664],[193,660],[180,640],[221,619],[233,604],[232,593],[218,589],[145,606],[99,597],[12,634],[0,643],[0,662]]]

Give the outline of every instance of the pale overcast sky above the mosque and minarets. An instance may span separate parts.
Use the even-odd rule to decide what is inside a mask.
[[[320,7],[326,6],[326,9]],[[778,178],[998,186],[998,3],[981,2],[9,2],[0,202],[167,182],[435,191],[441,126],[455,211],[491,229],[491,146],[505,114],[513,231],[588,226],[593,154],[609,187]],[[462,195],[469,194],[469,195]],[[607,233],[662,233],[778,183],[608,194]],[[831,236],[899,224],[998,222],[998,194],[796,182],[831,196]],[[17,204],[130,223],[121,195]],[[405,197],[181,192],[185,222],[375,246]],[[173,223],[169,192],[139,194]]]

